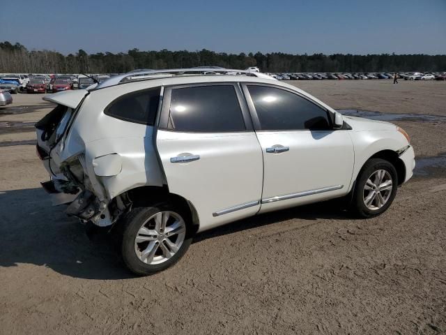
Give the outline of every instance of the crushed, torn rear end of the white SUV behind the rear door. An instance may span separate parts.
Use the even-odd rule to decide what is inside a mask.
[[[126,191],[162,187],[152,141],[160,87],[116,99],[95,97],[101,93],[46,96],[57,105],[36,129],[38,156],[51,175],[42,185],[53,204],[69,204],[68,215],[105,227],[130,208]]]

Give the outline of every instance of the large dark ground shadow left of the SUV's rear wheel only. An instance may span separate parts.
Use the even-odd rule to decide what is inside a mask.
[[[0,191],[0,268],[31,264],[89,279],[134,276],[125,269],[116,244],[85,234],[64,206],[52,207],[42,188]],[[0,270],[1,271],[1,270]]]

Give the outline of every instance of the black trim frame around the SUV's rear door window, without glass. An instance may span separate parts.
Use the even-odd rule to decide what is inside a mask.
[[[171,103],[171,93],[174,89],[185,89],[189,87],[206,87],[206,86],[232,86],[238,98],[238,104],[240,105],[240,110],[242,111],[243,121],[245,123],[245,130],[243,131],[177,131],[176,129],[170,129],[168,127],[169,114],[170,114],[170,103]],[[193,84],[173,84],[164,86],[164,96],[162,98],[162,107],[160,120],[158,128],[162,131],[172,131],[175,133],[197,133],[197,134],[220,134],[220,133],[252,133],[254,131],[254,125],[252,124],[252,119],[249,114],[249,109],[245,97],[238,82],[199,82]]]

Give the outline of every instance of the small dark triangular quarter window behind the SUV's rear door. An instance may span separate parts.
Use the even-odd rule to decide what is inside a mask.
[[[160,103],[160,91],[161,88],[157,87],[126,94],[110,103],[104,113],[116,119],[153,126]]]

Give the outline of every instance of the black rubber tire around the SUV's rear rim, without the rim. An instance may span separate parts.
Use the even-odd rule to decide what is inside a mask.
[[[137,233],[141,226],[144,224],[148,218],[151,218],[154,214],[160,211],[171,211],[183,218],[185,222],[185,237],[183,244],[181,244],[178,251],[171,256],[171,258],[161,262],[160,264],[149,265],[139,259],[135,251],[135,239]],[[167,202],[162,202],[160,204],[155,204],[152,207],[135,207],[126,214],[121,221],[122,225],[122,245],[121,253],[125,265],[134,274],[138,275],[151,275],[160,272],[168,267],[174,265],[181,257],[186,253],[187,248],[189,248],[192,243],[192,224],[190,222],[190,215],[185,213],[183,209],[176,208]]]

